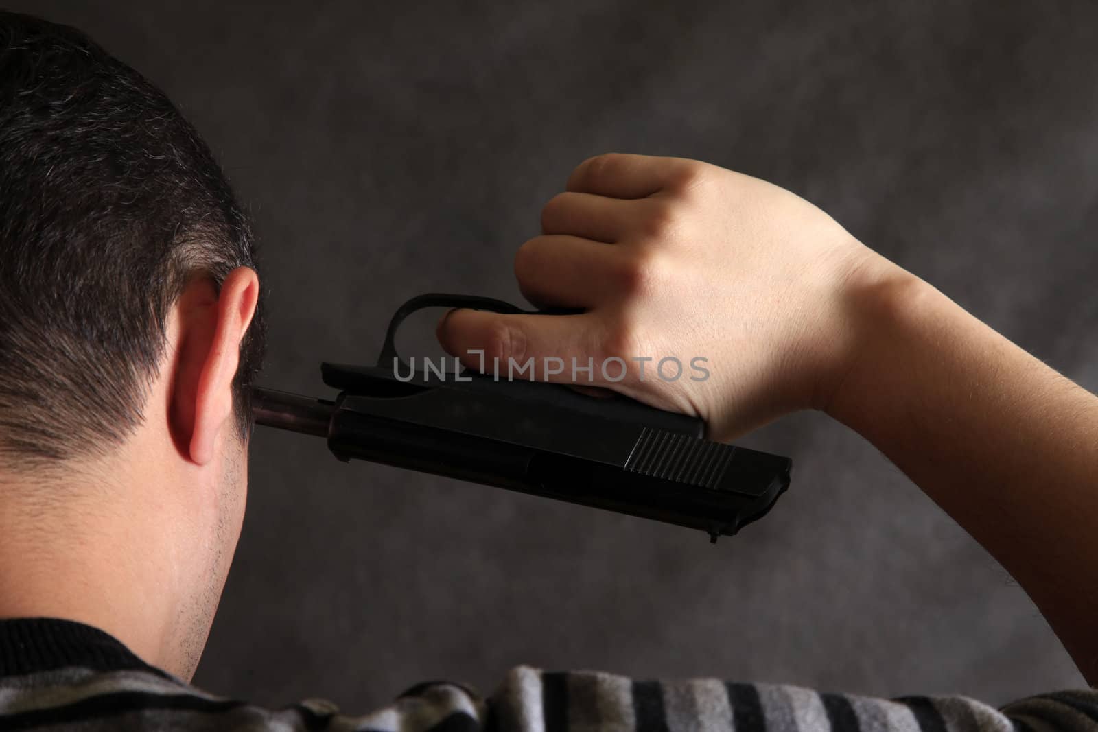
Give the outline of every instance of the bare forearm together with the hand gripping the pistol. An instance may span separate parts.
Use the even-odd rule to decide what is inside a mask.
[[[987,549],[1098,685],[1098,397],[765,181],[683,158],[583,161],[515,259],[523,294],[581,315],[469,309],[442,346],[478,368],[618,358],[584,386],[729,440],[799,409],[870,440]],[[664,382],[636,357],[707,359]],[[653,361],[654,362],[654,361]],[[618,373],[617,369],[614,373]]]

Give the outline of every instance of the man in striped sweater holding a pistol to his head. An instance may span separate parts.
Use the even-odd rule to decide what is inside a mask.
[[[596,385],[717,439],[827,412],[991,551],[1098,682],[1098,398],[763,181],[610,155],[567,189],[516,274],[586,312],[457,311],[450,352],[618,357],[626,379]],[[191,688],[262,336],[249,225],[193,128],[79,32],[0,13],[0,729],[1098,729],[1093,690],[997,711],[519,667],[488,699],[430,683],[350,718]],[[703,353],[713,378],[642,379],[631,359],[652,353]]]

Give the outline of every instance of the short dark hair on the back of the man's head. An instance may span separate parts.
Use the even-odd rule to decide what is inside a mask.
[[[0,12],[0,459],[121,444],[184,285],[220,292],[240,266],[257,267],[250,221],[164,92],[75,29]],[[257,308],[234,381],[243,440],[264,340]]]

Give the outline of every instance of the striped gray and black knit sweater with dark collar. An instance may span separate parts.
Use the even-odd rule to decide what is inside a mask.
[[[519,666],[481,697],[430,682],[363,716],[310,700],[225,699],[154,668],[114,638],[65,620],[0,620],[0,730],[370,732],[1098,732],[1098,690],[995,709],[961,696],[870,697],[717,679],[635,680]]]

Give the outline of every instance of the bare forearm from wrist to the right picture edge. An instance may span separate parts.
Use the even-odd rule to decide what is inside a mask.
[[[827,412],[983,544],[1098,685],[1098,397],[893,268]]]

